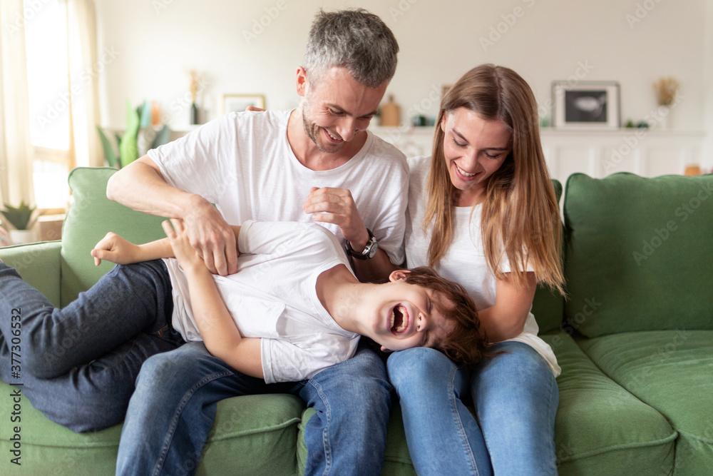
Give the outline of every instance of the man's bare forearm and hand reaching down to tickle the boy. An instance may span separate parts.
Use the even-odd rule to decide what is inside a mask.
[[[235,236],[217,208],[202,196],[170,186],[149,156],[111,176],[106,196],[136,211],[180,218],[190,244],[211,273],[227,275],[237,271]]]

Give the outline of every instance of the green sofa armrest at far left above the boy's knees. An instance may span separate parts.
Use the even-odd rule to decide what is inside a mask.
[[[0,248],[0,259],[17,270],[56,306],[60,305],[60,256],[62,242],[45,241]]]

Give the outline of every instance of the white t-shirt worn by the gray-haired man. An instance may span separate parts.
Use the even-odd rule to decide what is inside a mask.
[[[347,188],[379,248],[392,263],[404,261],[409,187],[406,158],[369,133],[361,151],[344,165],[312,171],[287,142],[291,111],[230,113],[177,141],[148,151],[172,186],[205,198],[227,223],[246,220],[312,223],[302,204],[311,187]],[[331,223],[319,223],[344,241]]]

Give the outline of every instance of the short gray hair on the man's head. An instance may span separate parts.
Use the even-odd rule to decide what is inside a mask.
[[[317,81],[332,66],[342,66],[352,78],[377,88],[394,77],[399,44],[379,16],[364,9],[325,12],[312,23],[302,66]]]

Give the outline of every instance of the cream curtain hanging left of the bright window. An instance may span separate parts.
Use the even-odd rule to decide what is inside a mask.
[[[0,192],[3,203],[34,205],[33,148],[30,141],[30,107],[23,0],[0,1]]]

